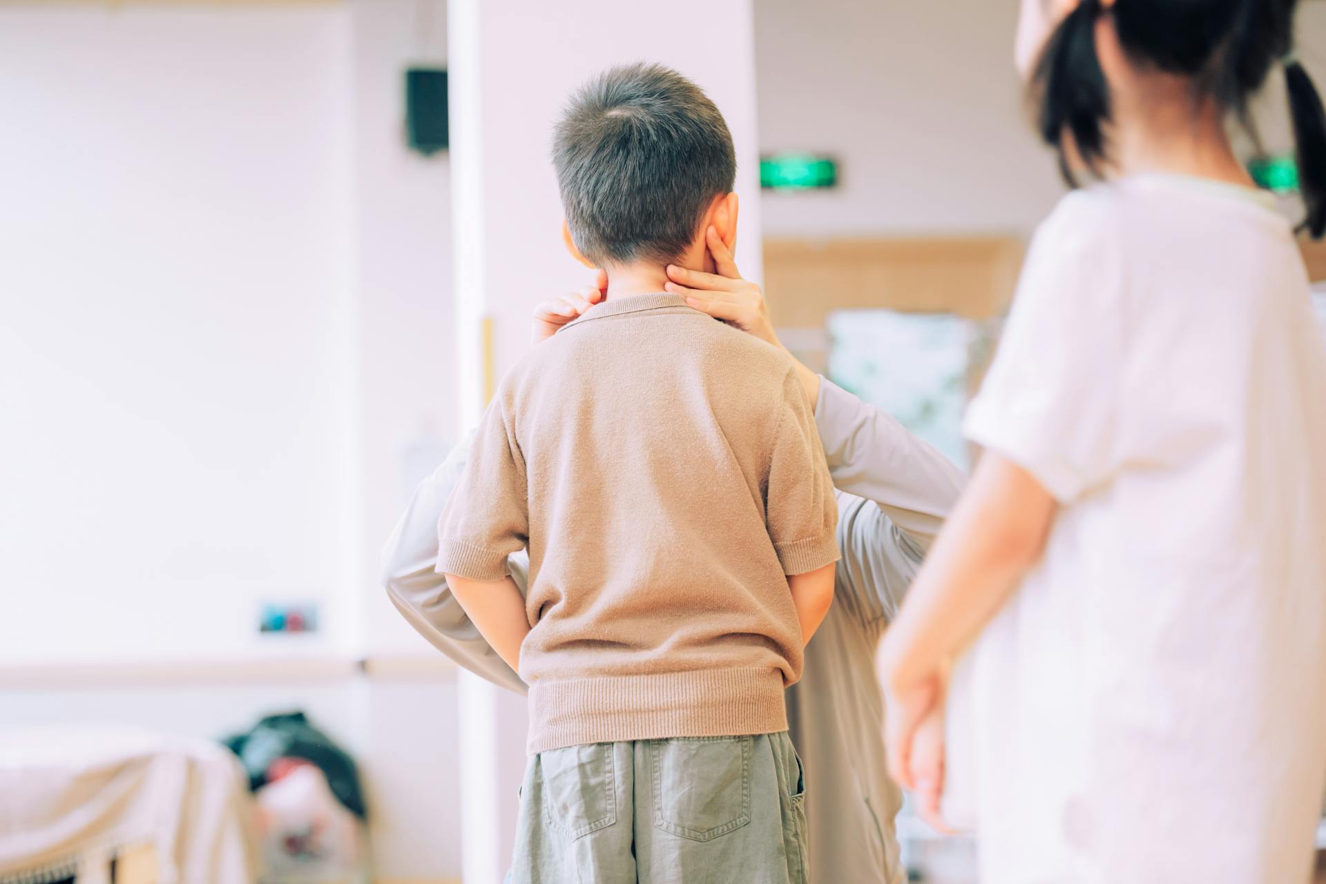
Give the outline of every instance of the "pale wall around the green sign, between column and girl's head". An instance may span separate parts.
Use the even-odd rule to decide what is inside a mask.
[[[1028,232],[1062,192],[1013,72],[1018,0],[757,0],[760,150],[837,156],[768,236]]]

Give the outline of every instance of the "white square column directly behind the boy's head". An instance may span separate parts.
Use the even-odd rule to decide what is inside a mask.
[[[589,273],[561,239],[549,159],[553,123],[572,91],[622,62],[658,61],[715,101],[737,148],[737,262],[761,278],[752,0],[450,0],[455,350],[460,421],[484,407],[483,322],[496,376],[526,350],[540,300]],[[487,683],[461,689],[464,881],[505,873],[524,770],[522,702]]]

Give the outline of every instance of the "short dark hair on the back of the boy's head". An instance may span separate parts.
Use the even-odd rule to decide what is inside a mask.
[[[575,248],[595,264],[674,261],[737,160],[723,114],[670,68],[599,74],[557,123],[553,164]]]

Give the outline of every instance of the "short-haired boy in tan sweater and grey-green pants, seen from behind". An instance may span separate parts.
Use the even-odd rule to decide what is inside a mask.
[[[511,880],[805,881],[784,688],[833,599],[833,485],[790,358],[663,290],[736,240],[732,138],[631,65],[575,94],[553,160],[609,297],[503,380],[439,524],[438,571],[529,684]]]

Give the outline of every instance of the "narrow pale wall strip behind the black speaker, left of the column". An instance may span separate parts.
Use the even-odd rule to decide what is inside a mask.
[[[446,0],[355,0],[355,220],[370,653],[435,653],[377,584],[378,550],[408,494],[460,437],[451,315],[451,158],[404,146],[404,69],[446,66]]]

